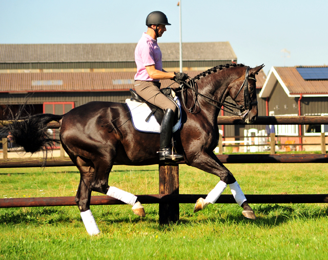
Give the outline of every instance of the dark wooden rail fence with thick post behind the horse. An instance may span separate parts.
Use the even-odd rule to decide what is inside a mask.
[[[218,117],[218,124],[243,124],[239,117]],[[259,117],[254,124],[328,124],[328,117]],[[49,128],[58,128],[56,122]],[[272,138],[274,140],[274,138]],[[218,155],[222,163],[328,163],[328,155]],[[166,224],[179,220],[179,204],[195,203],[205,194],[179,194],[179,162],[171,165],[159,165],[159,194],[138,195],[142,204],[159,204],[159,223]],[[42,160],[0,160],[0,167],[39,167]],[[47,166],[70,166],[69,159],[52,159]],[[249,203],[328,203],[328,194],[262,194],[245,195]],[[232,195],[222,195],[216,203],[235,203]],[[108,196],[93,196],[91,205],[124,204]],[[40,207],[40,206],[72,206],[76,205],[74,197],[18,198],[0,199],[0,207]]]

